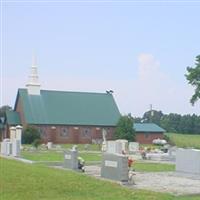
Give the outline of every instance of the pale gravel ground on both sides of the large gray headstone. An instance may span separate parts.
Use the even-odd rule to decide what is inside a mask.
[[[86,174],[100,177],[100,166],[86,166]],[[135,172],[135,185],[130,188],[147,189],[175,195],[200,194],[200,176],[177,172]]]

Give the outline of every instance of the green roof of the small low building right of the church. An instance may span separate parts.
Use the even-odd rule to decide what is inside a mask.
[[[154,123],[134,123],[136,132],[165,132],[165,130]]]

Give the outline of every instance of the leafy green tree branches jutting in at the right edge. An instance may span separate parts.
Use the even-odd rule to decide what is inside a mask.
[[[196,57],[195,67],[187,67],[188,73],[185,75],[189,84],[195,88],[194,94],[190,99],[192,105],[200,99],[200,55]]]

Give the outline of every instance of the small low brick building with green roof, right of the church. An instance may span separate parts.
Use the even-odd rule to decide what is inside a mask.
[[[136,141],[152,144],[154,139],[163,139],[165,130],[154,123],[134,123]]]

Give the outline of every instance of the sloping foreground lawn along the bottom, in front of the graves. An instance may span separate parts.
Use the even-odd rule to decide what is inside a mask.
[[[200,196],[132,190],[72,171],[0,158],[0,197],[6,200],[198,200]]]

